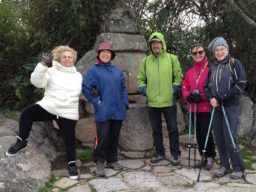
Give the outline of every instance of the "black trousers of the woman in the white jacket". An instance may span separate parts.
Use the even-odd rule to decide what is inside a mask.
[[[65,143],[67,161],[76,161],[76,120],[69,120],[45,111],[38,104],[27,106],[19,119],[19,137],[26,140],[29,137],[33,122],[56,120]]]

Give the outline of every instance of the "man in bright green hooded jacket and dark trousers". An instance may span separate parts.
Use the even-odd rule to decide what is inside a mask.
[[[166,52],[165,39],[160,32],[154,32],[148,44],[151,55],[142,59],[137,84],[142,95],[147,97],[148,115],[153,129],[156,154],[152,163],[165,159],[161,114],[168,128],[172,165],[180,165],[180,143],[177,128],[177,106],[175,95],[180,91],[183,73],[177,56]]]

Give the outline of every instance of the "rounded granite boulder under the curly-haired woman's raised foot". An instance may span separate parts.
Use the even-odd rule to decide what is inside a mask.
[[[50,179],[49,160],[32,145],[7,157],[5,152],[13,143],[16,137],[0,137],[0,191],[38,191]]]

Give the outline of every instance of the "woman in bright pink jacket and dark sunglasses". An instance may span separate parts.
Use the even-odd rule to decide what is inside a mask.
[[[193,59],[193,66],[191,66],[185,74],[182,84],[183,98],[188,102],[188,112],[191,105],[191,117],[194,125],[194,103],[197,103],[197,143],[201,156],[203,156],[203,148],[206,142],[206,135],[210,122],[210,107],[209,102],[206,100],[203,85],[206,81],[209,64],[206,57],[205,49],[202,44],[194,44],[191,47],[191,57]],[[209,140],[206,146],[206,159],[203,162],[203,168],[211,170],[215,165],[214,158],[216,157],[214,139],[210,132]],[[200,168],[200,163],[197,164]]]

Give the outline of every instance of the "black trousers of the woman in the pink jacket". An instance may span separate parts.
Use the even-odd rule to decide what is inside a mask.
[[[206,136],[209,129],[209,123],[211,119],[210,113],[197,113],[197,143],[200,155],[203,156],[203,148],[206,143]],[[194,126],[194,112],[191,113],[192,125]],[[212,127],[211,127],[212,129]],[[208,143],[206,145],[205,157],[216,157],[214,138],[212,133],[209,134]]]

